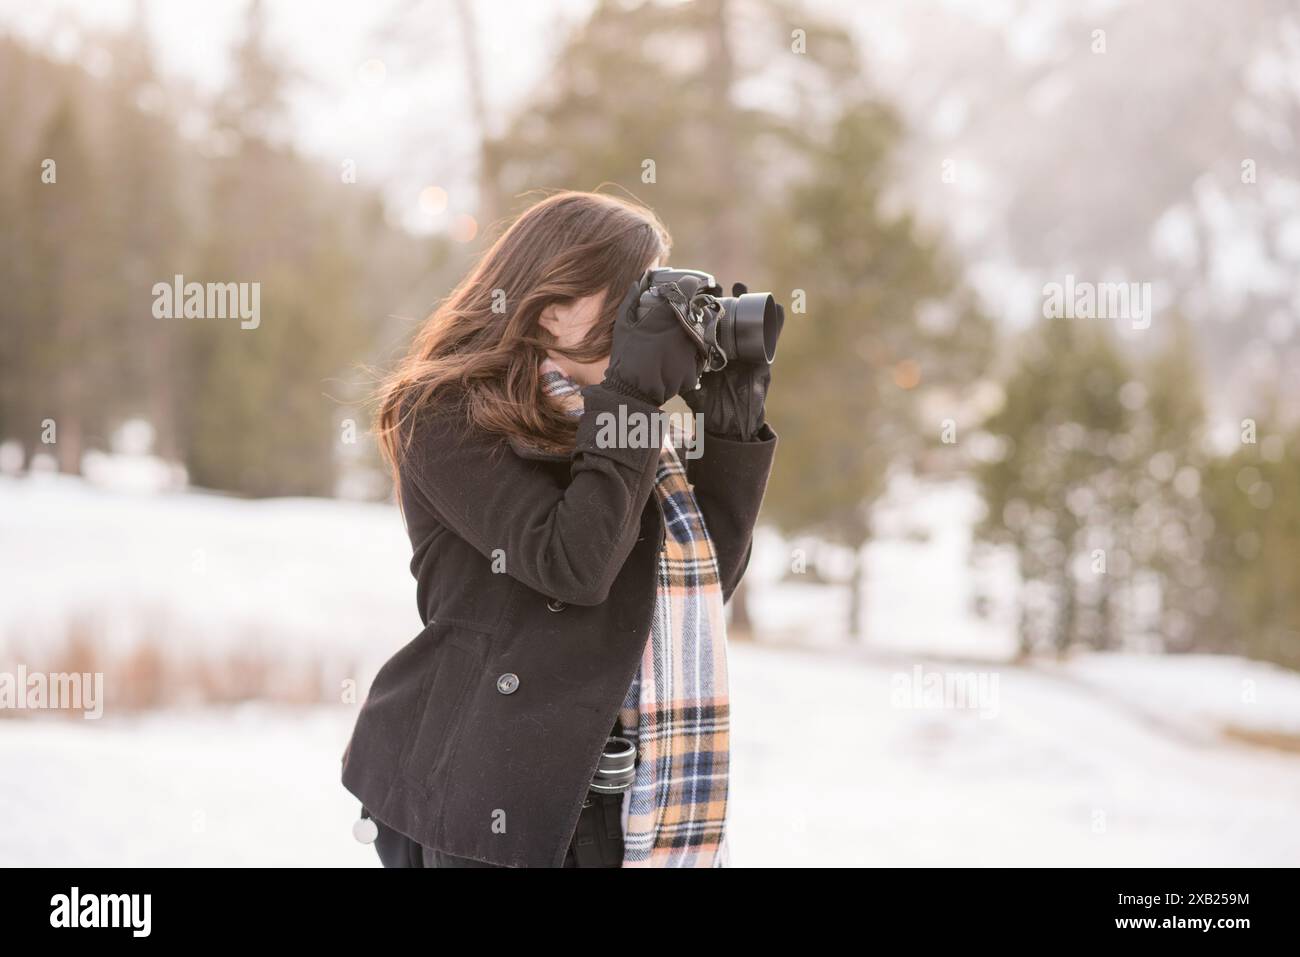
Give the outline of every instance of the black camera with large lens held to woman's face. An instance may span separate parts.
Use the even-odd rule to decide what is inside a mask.
[[[641,277],[642,293],[660,295],[672,306],[686,334],[705,355],[705,372],[736,360],[768,363],[785,325],[785,309],[771,293],[750,293],[734,283],[729,296],[711,273],[663,267]]]

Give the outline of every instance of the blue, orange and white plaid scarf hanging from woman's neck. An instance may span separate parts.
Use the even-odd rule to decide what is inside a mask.
[[[581,386],[550,358],[542,391],[582,415]],[[705,518],[677,458],[680,429],[664,429],[655,472],[663,510],[654,619],[619,711],[637,749],[623,796],[624,867],[725,867],[731,706],[723,593]]]

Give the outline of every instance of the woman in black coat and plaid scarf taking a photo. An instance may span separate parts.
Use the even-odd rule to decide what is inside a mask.
[[[701,377],[638,287],[668,248],[647,209],[552,195],[385,382],[425,628],[376,676],[342,779],[386,866],[727,863],[723,602],[776,436],[768,367]],[[611,441],[620,415],[654,420],[677,394],[698,458],[644,430]],[[620,731],[636,778],[610,806],[590,784]]]

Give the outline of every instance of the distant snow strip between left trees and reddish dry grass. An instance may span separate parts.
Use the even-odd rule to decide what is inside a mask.
[[[0,477],[0,644],[39,651],[91,615],[127,645],[161,623],[196,650],[386,655],[420,628],[410,557],[389,506]]]

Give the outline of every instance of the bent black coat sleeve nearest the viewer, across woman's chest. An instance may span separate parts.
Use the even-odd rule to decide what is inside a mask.
[[[593,385],[562,486],[508,442],[468,428],[463,413],[422,411],[402,462],[403,495],[422,495],[452,532],[529,588],[571,605],[599,605],[636,545],[659,449],[603,447],[602,413],[653,415],[640,399]],[[498,551],[499,550],[499,551]]]

